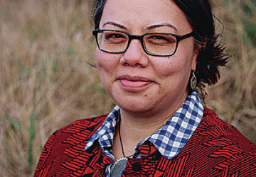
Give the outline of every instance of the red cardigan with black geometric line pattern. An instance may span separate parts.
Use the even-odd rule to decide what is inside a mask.
[[[85,144],[107,115],[77,120],[51,135],[34,176],[105,176],[111,159],[98,143]],[[174,159],[151,142],[139,146],[141,159],[129,159],[122,176],[256,176],[256,146],[235,127],[205,108],[198,128]]]

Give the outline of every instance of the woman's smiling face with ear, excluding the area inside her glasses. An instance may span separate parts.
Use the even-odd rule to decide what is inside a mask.
[[[107,0],[100,29],[132,35],[185,35],[192,31],[185,14],[171,0]],[[197,55],[192,37],[181,40],[171,57],[147,55],[135,39],[123,54],[96,48],[96,63],[102,85],[117,105],[131,113],[154,114],[181,106],[188,95],[188,79],[196,69]]]

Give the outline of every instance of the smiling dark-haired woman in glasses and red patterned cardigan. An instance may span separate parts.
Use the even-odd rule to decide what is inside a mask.
[[[255,176],[255,145],[198,97],[228,55],[208,1],[95,1],[109,115],[51,135],[35,176]]]

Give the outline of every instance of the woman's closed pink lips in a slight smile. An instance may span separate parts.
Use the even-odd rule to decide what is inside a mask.
[[[118,78],[119,84],[127,91],[142,91],[146,89],[149,84],[154,83],[150,79],[139,76],[120,76]]]

